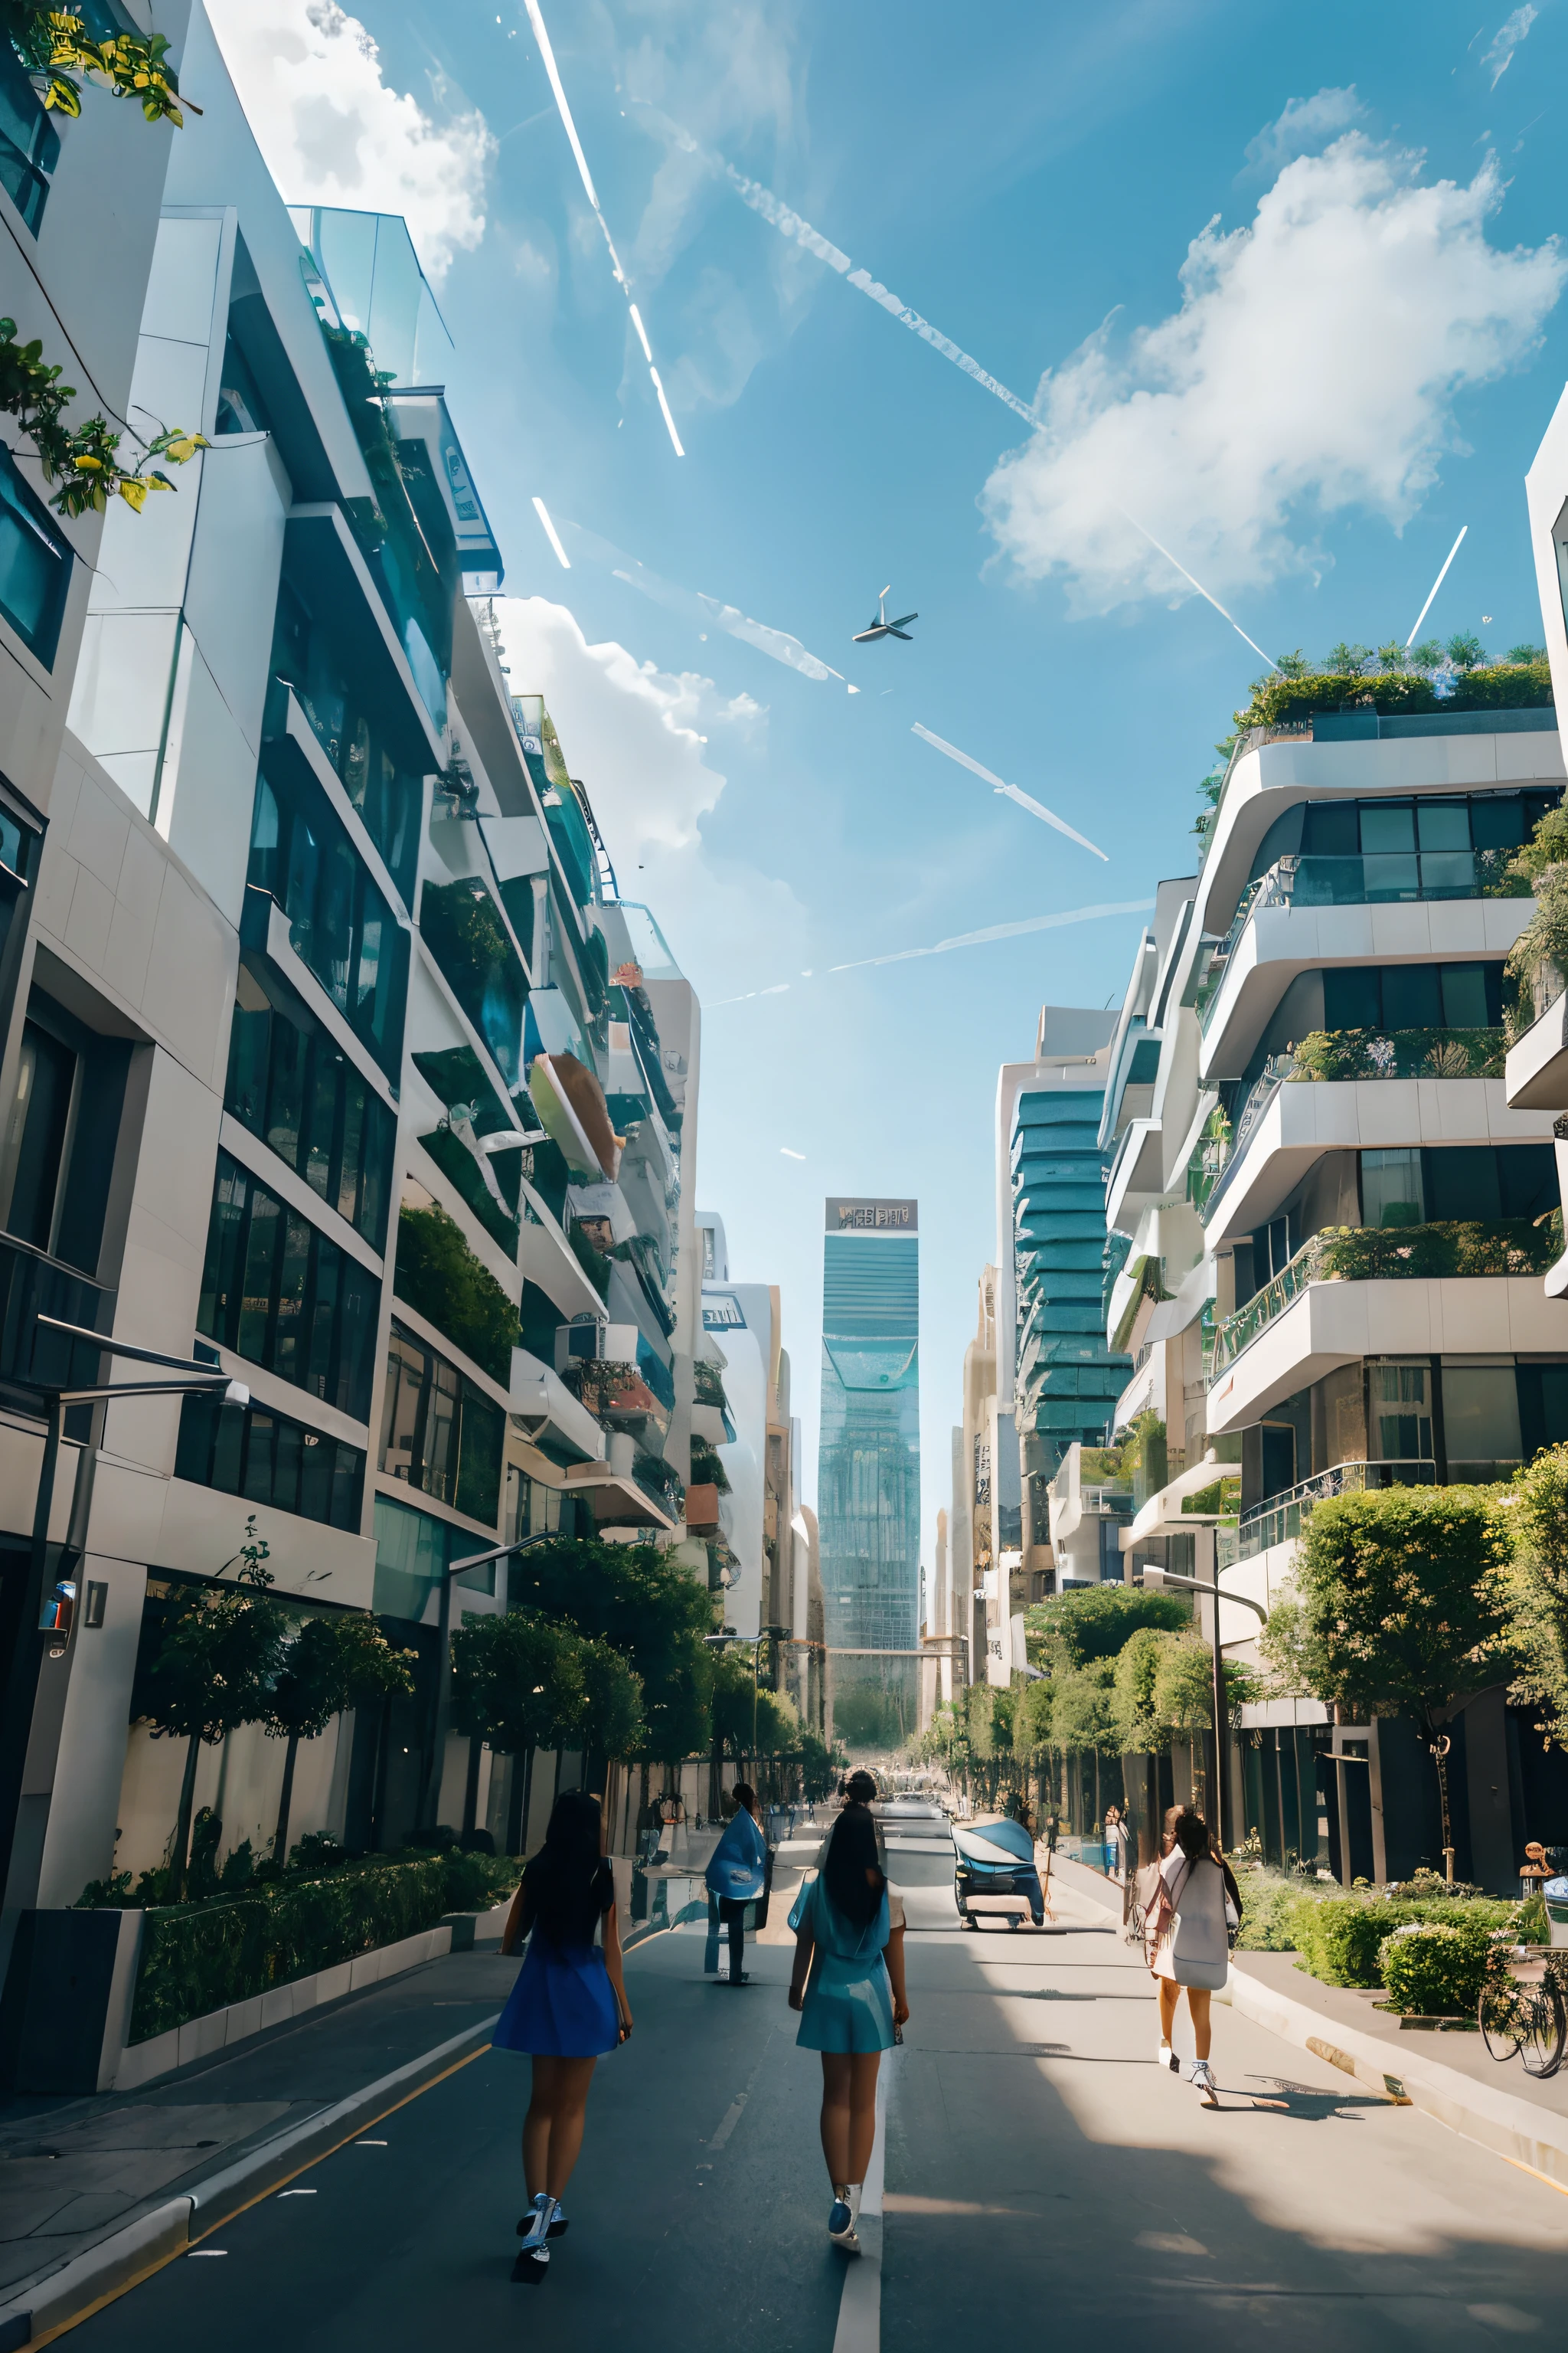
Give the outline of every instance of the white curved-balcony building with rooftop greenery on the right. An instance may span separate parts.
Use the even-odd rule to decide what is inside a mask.
[[[1502,1075],[1505,962],[1535,911],[1509,866],[1561,791],[1552,708],[1335,708],[1237,741],[1199,875],[1161,885],[1124,1007],[1138,1054],[1107,1094],[1128,1247],[1110,1329],[1135,1360],[1117,1426],[1164,1478],[1128,1574],[1208,1574],[1218,1551],[1220,1581],[1269,1602],[1319,1497],[1490,1480],[1568,1438],[1552,1118]],[[1222,1609],[1239,1657],[1255,1628]],[[1333,1817],[1345,1878],[1406,1873],[1427,1845],[1410,1727],[1321,1718],[1248,1711],[1248,1826],[1326,1857]],[[1371,1769],[1324,1779],[1319,1748]],[[1502,1687],[1465,1711],[1462,1753],[1469,1871],[1502,1885]]]

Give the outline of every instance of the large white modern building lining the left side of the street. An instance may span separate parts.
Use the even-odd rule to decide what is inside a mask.
[[[404,224],[289,212],[200,7],[176,47],[183,129],[89,92],[31,181],[0,169],[5,311],[108,409],[212,442],[174,496],[59,527],[9,419],[0,459],[7,1922],[160,1861],[183,1741],[132,1729],[139,1659],[247,1522],[275,1595],[418,1652],[414,1701],[301,1751],[294,1835],[357,1847],[428,1798],[527,1833],[503,1760],[433,1753],[451,1562],[684,1541],[691,988],[496,628]],[[249,1393],[68,1417],[54,1633],[24,1605],[40,1384],[108,1374],[40,1313]],[[454,1624],[501,1607],[505,1569],[470,1572]],[[268,1845],[280,1774],[254,1725],[202,1751],[223,1852]]]

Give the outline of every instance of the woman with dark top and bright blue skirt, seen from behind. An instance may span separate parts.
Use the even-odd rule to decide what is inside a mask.
[[[599,1944],[595,1944],[595,1927]],[[491,2045],[529,2052],[534,2089],[522,2120],[522,2179],[529,2212],[517,2224],[512,2266],[520,2287],[541,2287],[550,2240],[567,2228],[562,2198],[583,2146],[588,2085],[604,2052],[632,2031],[621,1974],[616,1875],[604,1854],[604,1817],[588,1791],[564,1791],[538,1854],[522,1873],[501,1939],[515,1953],[527,1937]]]

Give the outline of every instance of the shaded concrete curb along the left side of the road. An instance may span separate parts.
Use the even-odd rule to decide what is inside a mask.
[[[59,2329],[82,2320],[94,2306],[108,2304],[125,2287],[134,2287],[136,2280],[158,2271],[172,2257],[183,2254],[186,2247],[221,2228],[221,2224],[230,2221],[247,2205],[280,2188],[292,2174],[303,2172],[317,2158],[329,2155],[329,2151],[353,2139],[360,2125],[388,2115],[440,2075],[451,2073],[454,2066],[463,2066],[465,2059],[484,2047],[498,2017],[501,2012],[480,2019],[477,2026],[465,2026],[461,2035],[437,2042],[435,2049],[404,2061],[390,2075],[378,2075],[376,2082],[367,2082],[360,2092],[350,2092],[348,2099],[334,2101],[331,2108],[308,2115],[303,2125],[261,2141],[259,2148],[252,2148],[235,2165],[226,2165],[221,2172],[209,2174],[207,2181],[197,2181],[193,2191],[165,2200],[148,2214],[139,2214],[59,2271],[45,2271],[33,2280],[24,2280],[0,2304],[0,2353],[16,2353],[19,2346],[42,2344]]]

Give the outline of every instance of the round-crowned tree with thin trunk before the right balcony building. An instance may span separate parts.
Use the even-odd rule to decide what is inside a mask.
[[[1507,1605],[1507,1527],[1479,1487],[1385,1487],[1314,1506],[1295,1593],[1262,1628],[1284,1689],[1349,1708],[1352,1720],[1415,1718],[1436,1767],[1448,1875],[1443,1725],[1455,1699],[1502,1671]]]

